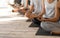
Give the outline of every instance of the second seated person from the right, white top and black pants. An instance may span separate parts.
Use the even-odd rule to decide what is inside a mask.
[[[41,15],[42,0],[30,0],[30,10],[25,13],[34,24],[40,25],[41,21],[38,20],[38,16]]]

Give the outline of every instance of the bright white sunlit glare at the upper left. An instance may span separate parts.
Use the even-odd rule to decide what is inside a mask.
[[[16,17],[16,15],[18,13],[13,13],[11,10],[14,8],[9,5],[9,3],[13,4],[13,1],[14,0],[1,0],[0,1],[0,21],[26,20],[26,19],[28,19],[26,17]]]

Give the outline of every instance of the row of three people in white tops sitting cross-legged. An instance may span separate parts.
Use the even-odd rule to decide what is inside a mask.
[[[21,0],[14,12],[21,12],[50,33],[60,34],[60,0]]]

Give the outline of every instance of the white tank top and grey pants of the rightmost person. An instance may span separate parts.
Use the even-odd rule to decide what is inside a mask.
[[[53,18],[55,14],[55,5],[57,3],[57,0],[54,0],[53,3],[48,3],[47,0],[45,2],[45,17],[44,18]],[[41,27],[45,29],[46,31],[58,31],[60,30],[60,21],[55,22],[41,22]]]

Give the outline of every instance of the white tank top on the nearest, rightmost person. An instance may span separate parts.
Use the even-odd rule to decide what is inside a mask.
[[[45,3],[45,10],[46,10],[44,17],[52,18],[55,13],[55,5],[57,3],[57,0],[54,0],[53,3],[48,3],[47,0],[44,0],[44,3]]]

